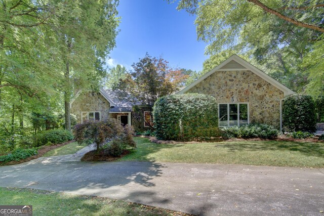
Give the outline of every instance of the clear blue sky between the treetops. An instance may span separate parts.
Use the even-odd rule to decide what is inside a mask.
[[[116,48],[107,65],[131,69],[145,53],[162,57],[173,68],[203,69],[206,44],[197,41],[194,17],[163,0],[120,0]]]

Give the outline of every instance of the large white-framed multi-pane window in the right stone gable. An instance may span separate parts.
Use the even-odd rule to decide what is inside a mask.
[[[249,123],[248,103],[220,103],[218,108],[218,124],[220,127],[239,126]]]

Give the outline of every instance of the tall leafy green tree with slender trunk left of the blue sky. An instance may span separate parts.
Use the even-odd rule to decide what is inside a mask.
[[[117,5],[114,0],[84,0],[63,2],[60,8],[56,30],[63,61],[60,68],[64,71],[65,128],[69,131],[73,85],[79,89],[98,89],[98,80],[105,75],[103,60],[115,47]]]

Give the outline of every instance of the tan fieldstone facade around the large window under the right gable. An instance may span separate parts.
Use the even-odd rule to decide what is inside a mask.
[[[284,93],[250,70],[216,71],[186,93],[212,95],[218,103],[249,103],[251,123],[280,126]]]

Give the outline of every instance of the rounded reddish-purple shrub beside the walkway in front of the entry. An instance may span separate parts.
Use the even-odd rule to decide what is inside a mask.
[[[134,129],[130,125],[121,126],[116,119],[87,121],[74,127],[75,140],[78,143],[93,141],[97,152],[105,155],[120,156],[127,148],[136,148],[133,140]]]

